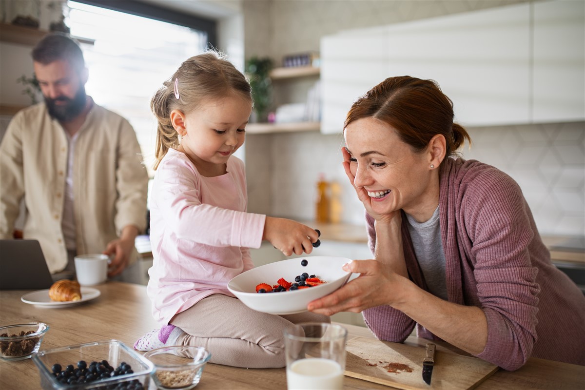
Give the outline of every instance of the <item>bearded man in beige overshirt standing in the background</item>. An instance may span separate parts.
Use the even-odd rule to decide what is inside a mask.
[[[44,103],[16,113],[0,143],[0,239],[13,237],[23,200],[23,238],[40,242],[54,279],[73,275],[74,256],[87,253],[108,254],[113,277],[136,260],[146,227],[136,133],[85,94],[88,70],[73,39],[47,34],[32,57]]]

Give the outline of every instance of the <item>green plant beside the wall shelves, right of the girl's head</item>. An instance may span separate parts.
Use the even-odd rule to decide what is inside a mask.
[[[272,60],[268,57],[252,57],[246,61],[246,75],[250,79],[254,112],[258,122],[266,122],[272,103],[272,84],[270,71]]]

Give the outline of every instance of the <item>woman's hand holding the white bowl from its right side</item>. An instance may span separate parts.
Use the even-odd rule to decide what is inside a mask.
[[[342,288],[323,298],[309,302],[314,313],[331,316],[339,312],[359,313],[380,305],[393,305],[401,301],[401,286],[411,283],[396,274],[390,265],[377,260],[353,260],[343,270],[360,274]]]

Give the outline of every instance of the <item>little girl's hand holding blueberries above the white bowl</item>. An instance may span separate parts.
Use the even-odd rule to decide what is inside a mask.
[[[266,217],[264,222],[263,240],[270,241],[284,256],[293,253],[301,255],[313,250],[312,243],[316,242],[319,234],[308,226],[291,219]]]

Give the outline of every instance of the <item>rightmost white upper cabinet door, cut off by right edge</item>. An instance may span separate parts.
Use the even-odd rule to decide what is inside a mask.
[[[585,118],[585,2],[534,2],[534,122]]]

